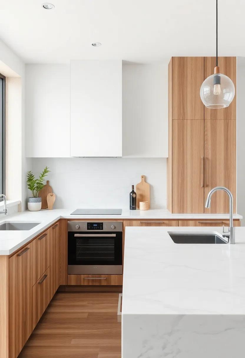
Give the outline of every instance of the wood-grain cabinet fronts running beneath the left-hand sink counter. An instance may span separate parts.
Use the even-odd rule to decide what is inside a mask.
[[[59,286],[59,223],[9,259],[9,355],[17,358]]]

